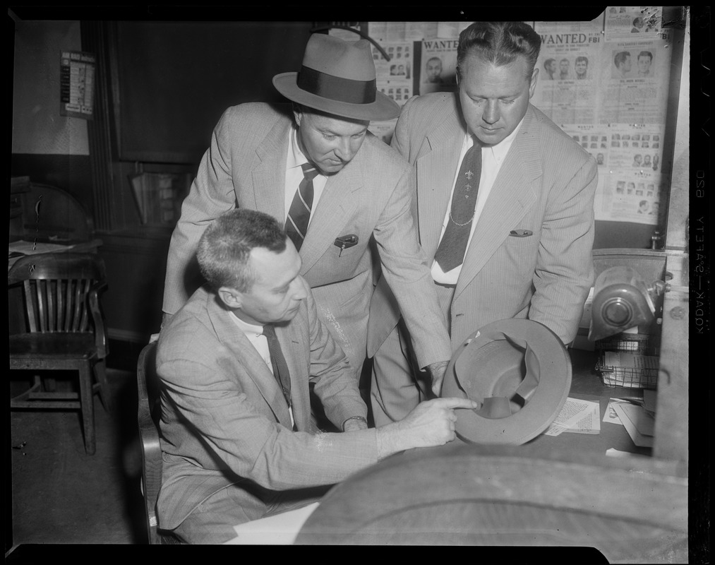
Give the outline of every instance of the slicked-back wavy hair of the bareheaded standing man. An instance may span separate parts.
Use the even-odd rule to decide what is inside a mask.
[[[497,67],[525,57],[531,79],[539,49],[541,37],[523,21],[475,21],[459,34],[457,74],[461,78],[462,64],[470,54]]]

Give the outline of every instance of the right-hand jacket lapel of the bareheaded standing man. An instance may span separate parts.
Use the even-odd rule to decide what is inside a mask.
[[[494,181],[469,244],[455,298],[466,288],[510,230],[536,201],[534,180],[541,177],[536,114],[529,107],[520,131]]]

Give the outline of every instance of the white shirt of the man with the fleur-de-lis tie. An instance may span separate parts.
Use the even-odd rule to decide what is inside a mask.
[[[519,122],[518,126],[514,129],[514,131],[511,132],[511,134],[508,134],[508,136],[505,137],[498,144],[492,145],[490,147],[482,147],[482,175],[479,177],[479,190],[477,192],[477,201],[474,208],[474,217],[472,218],[471,229],[469,232],[469,240],[467,241],[467,249],[469,249],[469,244],[472,240],[472,236],[474,235],[474,228],[477,225],[482,210],[484,210],[484,205],[486,204],[487,198],[489,197],[489,193],[491,192],[491,189],[494,185],[494,180],[499,174],[501,164],[504,162],[504,159],[506,159],[506,154],[509,152],[509,148],[511,147],[511,144],[516,138],[516,134],[519,131],[519,128],[521,128],[522,122],[523,119],[521,122]],[[448,222],[450,221],[449,214],[452,207],[452,196],[454,194],[455,184],[457,183],[457,175],[459,175],[459,169],[462,164],[462,159],[464,159],[465,153],[470,147],[472,147],[473,144],[474,139],[472,135],[469,133],[466,134],[464,136],[464,143],[462,144],[462,152],[460,153],[459,161],[457,162],[457,170],[455,171],[454,180],[452,182],[452,191],[450,192],[449,205],[447,207],[447,212],[445,213],[445,219],[442,222],[440,241],[442,241],[442,237],[445,233],[445,230],[447,229]],[[442,270],[442,267],[440,267],[439,263],[437,261],[434,261],[432,264],[432,277],[435,280],[435,283],[440,283],[440,285],[456,285],[457,279],[459,278],[459,273],[462,271],[462,265],[463,263],[460,263],[449,272],[444,272]]]

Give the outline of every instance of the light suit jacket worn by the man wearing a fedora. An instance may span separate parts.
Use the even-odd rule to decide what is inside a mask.
[[[293,127],[290,106],[240,104],[226,110],[199,166],[172,235],[164,285],[164,312],[176,312],[197,286],[194,252],[205,227],[235,206],[285,220],[285,162]],[[428,260],[410,214],[410,167],[394,149],[368,133],[360,151],[329,177],[300,249],[301,275],[318,313],[351,365],[365,359],[370,296],[378,276],[377,243],[385,278],[413,335],[421,366],[450,358]],[[340,250],[340,235],[358,245]]]

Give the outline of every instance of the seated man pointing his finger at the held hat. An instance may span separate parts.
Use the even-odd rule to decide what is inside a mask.
[[[408,448],[455,438],[455,408],[436,398],[368,429],[345,354],[317,318],[301,259],[273,217],[237,209],[212,223],[199,288],[159,336],[162,489],[159,527],[221,543],[232,526],[305,506],[334,483]],[[317,430],[309,382],[344,433]]]

